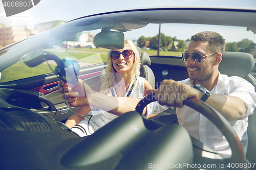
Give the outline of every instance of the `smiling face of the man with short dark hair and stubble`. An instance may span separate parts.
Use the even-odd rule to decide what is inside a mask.
[[[202,56],[211,54],[207,41],[191,41],[186,52],[189,54],[198,52]],[[214,55],[203,57],[200,63],[196,63],[190,56],[185,62],[189,78],[202,83],[208,81],[213,74],[214,58],[212,56]]]

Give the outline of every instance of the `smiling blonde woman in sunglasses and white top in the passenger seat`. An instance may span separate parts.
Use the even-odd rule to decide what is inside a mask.
[[[141,99],[146,90],[153,89],[150,83],[139,77],[140,54],[130,39],[125,39],[124,47],[120,50],[110,50],[106,55],[108,66],[103,71],[101,80],[96,83],[93,90],[100,93],[116,96]],[[147,106],[148,117],[152,106]],[[120,114],[111,114],[103,110],[92,109],[90,106],[80,107],[76,113],[84,116],[72,115],[65,123],[79,136],[87,136],[111,122]],[[91,111],[91,112],[90,112]],[[86,116],[88,113],[93,116]]]

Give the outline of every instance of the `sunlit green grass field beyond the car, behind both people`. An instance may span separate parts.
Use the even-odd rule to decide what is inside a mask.
[[[68,49],[68,52],[66,52],[65,49],[62,49],[61,51],[50,50],[49,52],[55,54],[60,59],[68,57],[71,60],[72,59],[76,61],[79,60],[79,62],[84,62],[87,64],[90,64],[90,63],[96,64],[96,63],[102,63],[102,61],[105,62],[104,58],[106,56],[107,51],[108,50],[105,48],[74,48],[74,49]],[[150,56],[157,55],[156,50],[141,50],[141,51],[146,52]],[[160,51],[160,55],[165,55],[165,56],[181,56],[181,53],[182,52]],[[55,66],[56,65],[52,64],[51,68],[54,70]],[[42,63],[36,67],[28,67],[27,65],[25,65],[25,63],[20,62],[2,71],[2,77],[1,77],[0,83],[48,74],[50,72],[52,71],[46,63]]]

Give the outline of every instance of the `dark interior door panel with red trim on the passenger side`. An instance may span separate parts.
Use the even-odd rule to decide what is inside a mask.
[[[79,78],[93,87],[99,81],[99,76],[105,66],[106,64],[102,63],[81,67]],[[60,84],[53,73],[0,83],[0,87],[2,98],[11,105],[28,108],[60,121],[72,115],[65,100],[62,99],[62,93],[58,91]],[[35,107],[34,102],[40,106]],[[50,108],[51,106],[53,108],[55,106],[56,110]],[[71,109],[76,112],[78,108],[72,107]]]

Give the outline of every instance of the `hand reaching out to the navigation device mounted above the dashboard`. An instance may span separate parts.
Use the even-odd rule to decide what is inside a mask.
[[[63,89],[60,88],[60,93],[65,93],[62,95],[62,98],[67,99],[67,103],[69,106],[73,107],[83,107],[88,106],[88,95],[93,94],[94,91],[81,79],[78,80],[77,85],[72,88],[65,82],[60,82],[63,86]]]

